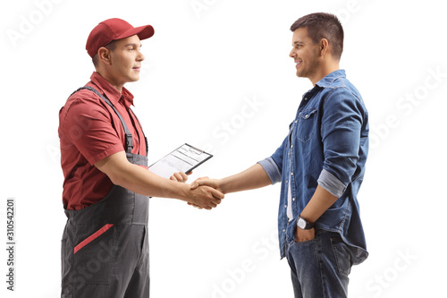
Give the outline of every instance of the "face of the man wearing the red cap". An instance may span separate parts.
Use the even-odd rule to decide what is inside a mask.
[[[144,55],[137,35],[115,41],[115,48],[108,51],[108,67],[105,79],[116,89],[122,89],[126,82],[139,81],[139,71]]]

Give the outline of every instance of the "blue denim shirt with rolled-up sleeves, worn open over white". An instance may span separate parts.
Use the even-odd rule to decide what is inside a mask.
[[[367,161],[367,118],[363,99],[345,72],[332,72],[303,95],[283,144],[270,158],[259,161],[272,183],[282,183],[278,216],[282,258],[285,244],[295,239],[297,218],[319,184],[339,199],[318,218],[316,228],[338,232],[345,243],[357,248],[354,264],[367,259],[357,200]]]

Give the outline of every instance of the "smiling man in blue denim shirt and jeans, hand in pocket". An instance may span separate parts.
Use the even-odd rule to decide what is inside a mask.
[[[357,200],[367,161],[367,109],[339,69],[340,21],[312,13],[291,31],[297,76],[314,88],[304,94],[283,144],[238,175],[200,178],[191,187],[228,193],[281,181],[280,250],[291,267],[295,297],[347,297],[351,266],[367,259]]]

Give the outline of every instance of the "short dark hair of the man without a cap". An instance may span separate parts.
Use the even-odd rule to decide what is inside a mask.
[[[308,30],[308,37],[314,44],[326,38],[332,48],[333,58],[340,60],[343,52],[343,27],[342,23],[332,13],[310,13],[299,18],[291,25],[291,31],[299,28]]]

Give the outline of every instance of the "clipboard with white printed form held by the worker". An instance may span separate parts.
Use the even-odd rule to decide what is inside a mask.
[[[164,158],[149,166],[152,173],[169,179],[175,172],[190,173],[193,169],[206,162],[213,155],[184,143]]]

